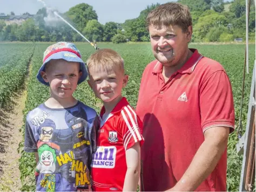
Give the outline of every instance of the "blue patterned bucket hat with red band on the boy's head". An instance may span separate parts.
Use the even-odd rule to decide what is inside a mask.
[[[81,54],[77,47],[73,43],[68,42],[58,42],[53,44],[44,52],[43,65],[40,67],[37,73],[37,79],[44,85],[48,85],[41,76],[41,71],[45,70],[45,64],[51,59],[64,59],[66,61],[73,61],[80,63],[80,71],[82,71],[82,76],[78,80],[78,84],[82,83],[88,76],[87,68],[84,61],[81,59]]]

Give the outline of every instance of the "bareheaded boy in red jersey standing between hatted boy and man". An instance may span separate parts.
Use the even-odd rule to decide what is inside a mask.
[[[142,121],[122,88],[128,76],[124,60],[111,49],[101,49],[87,60],[88,83],[103,101],[99,115],[97,151],[91,163],[94,191],[136,191],[140,175],[140,146],[144,142]]]

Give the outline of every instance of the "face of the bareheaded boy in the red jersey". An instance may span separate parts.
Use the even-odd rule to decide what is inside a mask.
[[[111,102],[122,97],[122,88],[126,86],[128,76],[114,70],[90,70],[89,85],[96,97],[103,102]]]

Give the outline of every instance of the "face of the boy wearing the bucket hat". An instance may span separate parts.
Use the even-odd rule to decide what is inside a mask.
[[[49,82],[53,97],[69,98],[76,90],[82,72],[79,72],[79,63],[55,60],[47,64],[41,75],[45,82]]]

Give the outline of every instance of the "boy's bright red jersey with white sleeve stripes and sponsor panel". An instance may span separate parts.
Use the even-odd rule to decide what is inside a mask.
[[[112,112],[102,120],[97,134],[97,151],[93,154],[91,176],[93,191],[122,191],[127,170],[125,150],[136,142],[144,142],[142,121],[122,98]]]

